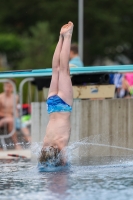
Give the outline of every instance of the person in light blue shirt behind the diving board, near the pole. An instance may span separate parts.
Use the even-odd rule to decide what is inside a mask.
[[[77,44],[71,45],[69,67],[84,67],[83,62],[78,55]]]

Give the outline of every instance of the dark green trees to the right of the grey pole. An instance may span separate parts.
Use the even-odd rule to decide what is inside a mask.
[[[132,6],[132,0],[85,1],[85,62],[120,54],[132,59]]]

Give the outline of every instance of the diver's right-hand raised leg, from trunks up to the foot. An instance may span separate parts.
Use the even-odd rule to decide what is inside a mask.
[[[60,53],[60,68],[59,68],[59,85],[58,95],[70,106],[73,102],[73,89],[69,72],[69,57],[71,38],[73,32],[73,23],[69,22],[61,29],[61,34],[64,36],[64,41]]]

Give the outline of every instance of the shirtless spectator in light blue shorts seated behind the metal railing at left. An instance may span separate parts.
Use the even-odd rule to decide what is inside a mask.
[[[10,79],[14,82],[13,79]],[[14,106],[14,96],[13,96],[13,87],[12,84],[9,82],[4,83],[4,92],[0,94],[0,127],[7,126],[8,133],[13,130],[13,123],[14,123],[14,113],[13,113],[13,106]],[[19,98],[16,95],[16,103],[18,103]],[[26,141],[30,141],[30,134],[29,130],[23,123],[20,122],[18,118],[18,110],[16,108],[16,119],[15,119],[15,128],[21,129],[24,133]],[[20,149],[21,146],[18,145],[17,134],[16,132],[12,135],[12,140],[15,144],[16,149]]]

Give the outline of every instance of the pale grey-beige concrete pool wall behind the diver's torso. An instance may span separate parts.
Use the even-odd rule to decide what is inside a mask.
[[[43,141],[47,122],[46,103],[32,103],[33,143]],[[133,149],[133,99],[74,100],[70,143],[84,138],[91,144],[81,145],[77,155],[133,154],[132,150],[125,149]]]

